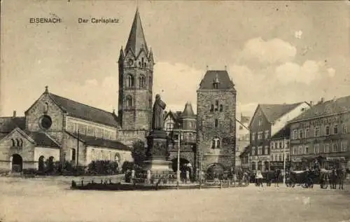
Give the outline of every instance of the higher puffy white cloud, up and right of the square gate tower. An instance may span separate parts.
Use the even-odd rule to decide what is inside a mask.
[[[244,44],[241,57],[244,60],[257,60],[262,64],[281,64],[292,61],[297,53],[295,46],[281,39],[250,39]]]

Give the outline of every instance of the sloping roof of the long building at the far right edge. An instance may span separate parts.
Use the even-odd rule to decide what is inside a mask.
[[[337,113],[344,113],[350,111],[350,96],[340,97],[339,99],[332,99],[326,102],[318,103],[311,106],[310,109],[301,113],[290,123],[297,122],[300,120],[307,120],[310,118],[318,118],[321,116],[329,116]]]

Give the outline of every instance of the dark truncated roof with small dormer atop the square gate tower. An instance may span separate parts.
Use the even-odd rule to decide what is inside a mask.
[[[230,80],[226,70],[208,70],[200,82],[200,90],[214,90],[213,83],[218,82],[218,90],[234,90],[235,84]]]

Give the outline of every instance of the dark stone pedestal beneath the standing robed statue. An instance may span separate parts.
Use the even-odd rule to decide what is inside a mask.
[[[147,137],[147,159],[144,170],[152,174],[172,173],[172,161],[169,161],[168,136],[164,130],[153,130]]]

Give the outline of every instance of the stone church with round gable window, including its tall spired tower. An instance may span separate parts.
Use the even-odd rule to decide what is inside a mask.
[[[120,50],[118,115],[60,97],[45,88],[23,117],[0,118],[0,171],[41,169],[45,161],[132,161],[134,141],[146,141],[151,126],[153,53],[139,11]]]

